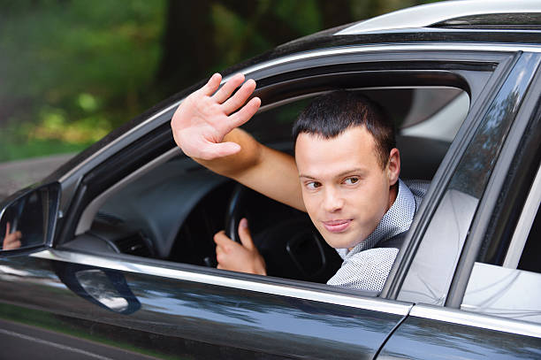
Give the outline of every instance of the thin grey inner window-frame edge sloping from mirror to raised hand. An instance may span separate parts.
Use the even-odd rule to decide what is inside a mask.
[[[94,221],[96,212],[100,210],[103,203],[107,201],[110,195],[113,195],[119,189],[124,188],[127,184],[129,184],[133,180],[139,179],[145,173],[156,168],[156,166],[162,165],[166,161],[171,159],[172,157],[176,157],[177,155],[180,155],[180,154],[182,154],[182,150],[180,148],[170,149],[169,151],[166,151],[161,156],[156,157],[149,163],[141,166],[136,171],[130,173],[124,179],[119,180],[113,186],[103,191],[102,194],[96,196],[95,199],[91,203],[88,204],[88,206],[85,208],[82,215],[80,216],[79,223],[77,224],[77,228],[75,230],[75,235],[77,236],[77,235],[83,234],[84,232],[90,229],[90,226],[92,226],[92,222]]]

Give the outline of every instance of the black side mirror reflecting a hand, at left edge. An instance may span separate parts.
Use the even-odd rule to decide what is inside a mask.
[[[0,250],[34,249],[52,243],[60,184],[26,188],[0,204]]]

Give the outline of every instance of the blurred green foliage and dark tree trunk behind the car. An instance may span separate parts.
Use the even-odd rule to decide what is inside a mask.
[[[0,1],[0,161],[79,151],[228,65],[429,2]]]

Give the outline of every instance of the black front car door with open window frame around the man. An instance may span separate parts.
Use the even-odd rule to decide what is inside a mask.
[[[407,45],[317,50],[245,73],[258,80],[257,95],[270,104],[333,88],[463,88],[471,110],[446,165],[464,151],[462,134],[476,126],[475,115],[486,111],[491,89],[501,87],[500,77],[520,57],[507,49],[455,50]],[[167,124],[175,107],[158,111],[62,174],[62,213],[52,249],[0,260],[3,318],[20,323],[19,314],[25,314],[34,332],[72,333],[157,357],[373,358],[413,302],[70,246],[95,215],[96,209],[88,210],[95,199],[177,151]],[[446,178],[445,167],[440,169],[436,181]],[[432,188],[427,196],[430,205],[438,192]],[[424,211],[415,221],[429,218],[431,211]]]

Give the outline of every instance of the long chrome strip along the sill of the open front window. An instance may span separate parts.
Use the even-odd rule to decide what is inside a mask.
[[[241,280],[219,275],[189,272],[172,269],[171,267],[158,267],[149,264],[132,263],[126,260],[108,259],[95,255],[81,254],[68,250],[46,249],[34,253],[31,257],[64,261],[74,264],[87,264],[91,266],[114,269],[122,272],[137,272],[147,275],[160,276],[175,280],[193,281],[197,283],[217,285],[220,287],[233,287],[258,293],[281,295],[305,299],[321,303],[333,303],[357,309],[386,312],[394,315],[407,316],[412,305],[391,300],[360,297],[354,295],[331,294],[324,291],[306,289],[298,286],[277,285],[269,282],[254,280]],[[263,278],[264,279],[264,278]]]

